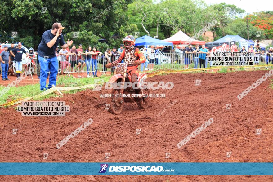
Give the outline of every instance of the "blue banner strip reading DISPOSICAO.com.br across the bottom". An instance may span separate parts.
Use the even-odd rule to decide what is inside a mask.
[[[0,163],[0,175],[273,175],[273,163]]]

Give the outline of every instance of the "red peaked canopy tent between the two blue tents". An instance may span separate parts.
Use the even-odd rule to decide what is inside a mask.
[[[185,42],[190,41],[190,37],[183,33],[181,30],[174,34],[173,36],[164,39],[163,41],[172,42],[173,44],[183,44]],[[190,44],[199,44],[205,45],[205,41],[193,40]]]

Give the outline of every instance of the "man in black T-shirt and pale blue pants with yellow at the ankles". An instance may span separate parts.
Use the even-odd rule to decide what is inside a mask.
[[[29,53],[25,51],[25,49],[22,49],[22,43],[18,43],[18,48],[12,49],[10,51],[11,55],[14,57],[15,60],[15,69],[16,69],[16,76],[17,78],[20,78],[21,72],[22,72],[22,55],[23,53],[26,54],[26,57],[29,56]]]

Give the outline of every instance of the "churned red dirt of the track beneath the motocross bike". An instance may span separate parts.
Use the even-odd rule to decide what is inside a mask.
[[[148,81],[174,82],[166,98],[153,98],[150,107],[139,110],[126,103],[124,112],[105,111],[106,90],[86,90],[74,95],[46,99],[65,101],[65,117],[22,117],[13,107],[1,111],[0,162],[273,162],[273,90],[266,80],[242,100],[237,95],[266,72],[227,74],[169,74]],[[195,80],[201,80],[195,86]],[[165,113],[158,113],[178,100]],[[231,108],[226,110],[226,104]],[[92,125],[60,149],[56,144],[89,118]],[[197,127],[214,122],[188,143],[177,148]],[[17,128],[16,135],[11,134]],[[261,135],[255,129],[262,128]],[[141,133],[136,135],[136,129]],[[226,152],[232,152],[230,158]],[[171,153],[165,159],[165,153]],[[49,153],[43,159],[43,153]],[[105,153],[111,153],[104,159]],[[273,176],[0,176],[0,181],[273,181]]]

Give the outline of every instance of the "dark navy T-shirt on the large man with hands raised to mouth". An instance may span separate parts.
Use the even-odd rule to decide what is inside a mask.
[[[59,43],[61,46],[65,45],[65,40],[63,34],[61,34],[57,38],[55,44],[51,48],[49,48],[47,46],[47,43],[50,42],[54,37],[55,35],[51,33],[51,29],[43,33],[41,43],[38,46],[38,56],[48,56],[48,58],[56,57],[55,50],[57,46],[59,45]]]

